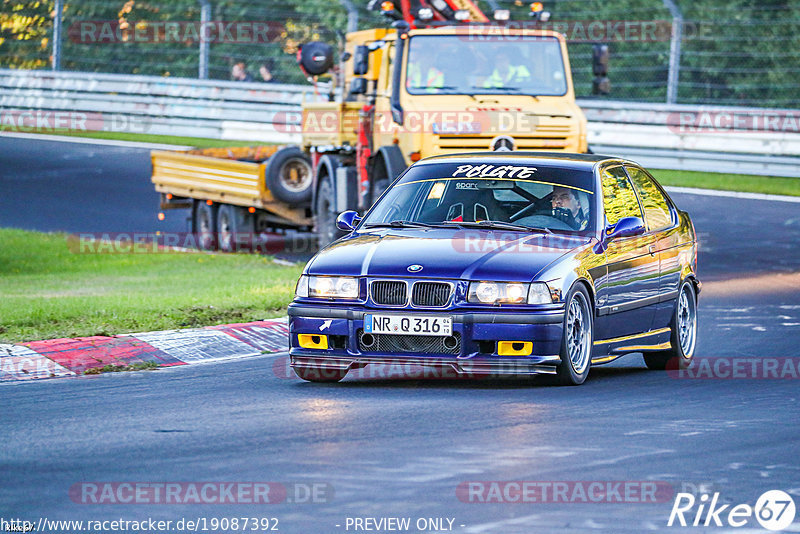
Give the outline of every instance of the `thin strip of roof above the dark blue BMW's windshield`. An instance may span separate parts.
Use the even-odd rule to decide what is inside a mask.
[[[550,165],[553,167],[566,167],[575,170],[587,170],[601,161],[620,161],[633,163],[632,161],[616,156],[601,156],[599,154],[570,154],[565,152],[464,152],[459,154],[448,154],[445,156],[432,156],[416,163],[416,165],[426,165],[433,163],[470,163],[479,160],[482,163],[525,163],[537,165]]]

